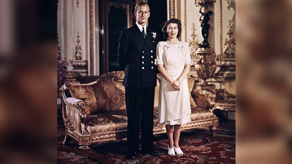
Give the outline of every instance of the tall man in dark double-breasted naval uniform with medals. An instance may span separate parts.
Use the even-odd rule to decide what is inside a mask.
[[[118,40],[118,63],[126,70],[123,85],[126,90],[127,145],[129,158],[137,157],[139,129],[143,154],[160,155],[153,151],[153,106],[156,87],[156,33],[146,26],[149,5],[140,2],[135,7],[136,24],[121,32]]]

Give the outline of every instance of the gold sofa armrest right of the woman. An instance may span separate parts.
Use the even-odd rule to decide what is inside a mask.
[[[215,94],[210,91],[193,89],[191,95],[198,107],[209,109],[211,111],[215,104]]]

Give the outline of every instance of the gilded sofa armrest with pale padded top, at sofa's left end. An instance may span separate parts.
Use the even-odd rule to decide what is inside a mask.
[[[86,120],[86,104],[80,99],[73,98],[68,92],[66,86],[63,88],[63,119],[66,128],[74,130],[80,134],[89,134],[85,128],[84,122]],[[67,97],[70,96],[70,97]]]

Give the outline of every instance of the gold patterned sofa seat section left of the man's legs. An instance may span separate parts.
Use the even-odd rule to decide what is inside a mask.
[[[90,134],[103,134],[127,130],[127,111],[116,110],[92,114],[85,120]]]

